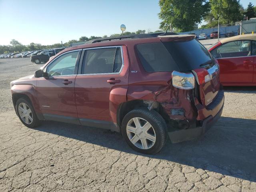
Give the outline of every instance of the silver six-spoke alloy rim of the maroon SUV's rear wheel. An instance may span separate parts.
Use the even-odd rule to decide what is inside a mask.
[[[143,118],[135,117],[126,126],[127,136],[140,149],[152,148],[156,142],[156,132],[153,126]]]

